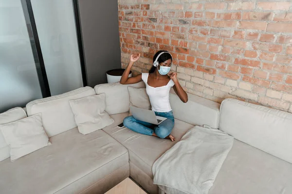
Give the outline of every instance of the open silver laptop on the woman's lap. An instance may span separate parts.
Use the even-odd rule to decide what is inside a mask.
[[[130,106],[130,111],[136,120],[152,123],[154,125],[159,125],[160,123],[167,119],[161,116],[156,116],[154,111],[140,109],[133,106]]]

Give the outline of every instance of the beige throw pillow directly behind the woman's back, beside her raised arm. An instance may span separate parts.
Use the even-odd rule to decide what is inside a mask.
[[[130,96],[130,106],[146,110],[151,109],[151,104],[149,97],[146,93],[146,88],[128,87],[128,91]],[[129,115],[131,115],[131,113],[129,113]]]

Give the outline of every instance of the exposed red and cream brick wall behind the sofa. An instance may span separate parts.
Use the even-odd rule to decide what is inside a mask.
[[[119,0],[122,66],[134,74],[172,53],[184,89],[292,112],[292,3],[271,0]]]

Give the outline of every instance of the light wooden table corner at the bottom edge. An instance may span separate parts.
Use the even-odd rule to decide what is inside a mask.
[[[146,192],[136,185],[136,183],[130,178],[126,178],[106,194],[146,194]]]

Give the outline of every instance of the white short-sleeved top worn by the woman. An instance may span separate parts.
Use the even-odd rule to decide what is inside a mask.
[[[152,87],[148,85],[148,75],[149,73],[142,73],[142,80],[146,84],[146,93],[149,96],[150,103],[152,106],[152,111],[159,113],[166,113],[171,111],[169,103],[169,91],[174,82],[170,80],[166,85],[161,87]]]

